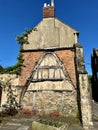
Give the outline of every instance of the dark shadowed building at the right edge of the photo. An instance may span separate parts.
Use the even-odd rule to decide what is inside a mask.
[[[98,49],[93,49],[91,56],[92,66],[92,96],[98,102]]]

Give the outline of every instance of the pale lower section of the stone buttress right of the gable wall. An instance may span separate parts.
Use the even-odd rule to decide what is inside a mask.
[[[92,129],[91,88],[88,84],[87,74],[79,74],[79,89],[82,124],[85,129]]]

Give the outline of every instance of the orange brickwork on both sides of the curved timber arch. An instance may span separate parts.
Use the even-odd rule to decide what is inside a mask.
[[[74,66],[74,52],[71,50],[61,50],[55,52],[60,60],[63,62],[66,71],[74,86],[76,86],[76,75]],[[19,78],[19,85],[24,86],[26,80],[29,78],[31,72],[33,71],[36,62],[39,61],[44,52],[25,52],[23,53],[23,68],[22,73]]]

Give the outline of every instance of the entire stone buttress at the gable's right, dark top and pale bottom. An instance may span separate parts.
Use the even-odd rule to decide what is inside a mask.
[[[84,129],[92,129],[92,95],[91,88],[88,83],[88,74],[84,64],[83,47],[77,43],[76,45],[76,69],[77,69],[77,85],[79,90],[79,108]]]

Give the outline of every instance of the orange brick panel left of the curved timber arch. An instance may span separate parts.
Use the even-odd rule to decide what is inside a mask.
[[[24,86],[26,83],[26,80],[29,78],[31,72],[34,69],[34,66],[36,65],[36,62],[40,59],[43,52],[26,52],[23,53],[23,67],[22,72],[19,77],[19,86]]]

